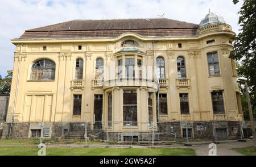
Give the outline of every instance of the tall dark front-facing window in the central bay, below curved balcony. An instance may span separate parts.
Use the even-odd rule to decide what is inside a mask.
[[[123,125],[137,126],[137,91],[123,91]]]

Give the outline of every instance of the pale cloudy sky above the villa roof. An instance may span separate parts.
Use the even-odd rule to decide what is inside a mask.
[[[164,18],[199,24],[210,10],[238,34],[242,3],[232,0],[10,0],[0,1],[0,75],[13,69],[15,45],[25,30],[75,19]]]

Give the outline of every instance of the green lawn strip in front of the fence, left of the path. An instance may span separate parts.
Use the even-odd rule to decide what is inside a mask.
[[[33,147],[0,147],[0,156],[36,156]],[[46,148],[47,156],[193,156],[189,148]]]

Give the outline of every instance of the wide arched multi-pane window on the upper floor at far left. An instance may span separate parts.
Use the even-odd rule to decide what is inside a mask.
[[[30,80],[54,80],[55,79],[55,62],[49,59],[41,59],[34,62],[31,68]]]

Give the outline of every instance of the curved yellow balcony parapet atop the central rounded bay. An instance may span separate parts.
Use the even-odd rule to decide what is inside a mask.
[[[154,80],[147,80],[141,78],[122,78],[116,80],[108,80],[102,83],[103,89],[112,87],[147,87],[148,91],[155,92],[158,90],[158,82]]]

